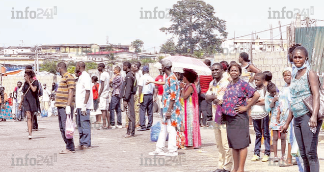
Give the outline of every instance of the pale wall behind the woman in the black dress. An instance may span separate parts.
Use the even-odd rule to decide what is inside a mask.
[[[61,77],[56,76],[37,76],[36,78],[43,84],[46,84],[49,90],[52,90],[52,83],[61,81]],[[25,83],[23,76],[5,76],[2,77],[2,86],[5,88],[5,92],[8,94],[14,91],[14,88],[17,86],[17,82],[21,81],[23,84]]]

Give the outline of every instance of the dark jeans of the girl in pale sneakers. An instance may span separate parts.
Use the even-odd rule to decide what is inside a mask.
[[[265,138],[265,155],[270,156],[269,115],[262,119],[252,119],[255,131],[254,154],[260,156],[262,134]]]

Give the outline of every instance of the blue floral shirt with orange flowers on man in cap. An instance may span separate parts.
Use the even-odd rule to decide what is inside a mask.
[[[170,101],[174,100],[173,110],[171,112],[171,125],[174,127],[181,127],[182,115],[181,115],[181,103],[180,103],[180,89],[179,89],[179,81],[174,73],[170,73],[170,75],[165,79],[165,84],[163,86],[163,124],[167,124],[167,120],[165,118],[165,114],[169,108]]]

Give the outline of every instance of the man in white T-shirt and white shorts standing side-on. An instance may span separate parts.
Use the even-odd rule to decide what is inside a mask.
[[[103,116],[103,126],[100,127],[100,130],[111,129],[110,127],[110,115],[109,115],[109,81],[110,77],[108,72],[105,71],[105,64],[98,64],[98,71],[100,73],[100,89],[99,89],[99,106],[98,109],[101,110]],[[91,83],[91,82],[90,82]],[[106,124],[106,119],[108,124]]]

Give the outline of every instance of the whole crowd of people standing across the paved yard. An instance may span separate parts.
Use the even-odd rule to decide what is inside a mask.
[[[310,69],[307,50],[299,44],[290,47],[288,59],[292,67],[282,71],[286,85],[281,90],[271,82],[271,72],[262,72],[254,66],[247,53],[240,54],[241,65],[235,61],[211,64],[210,60],[204,60],[211,76],[198,75],[186,68],[182,73],[173,72],[172,61],[163,59],[160,75],[155,79],[150,76],[149,67],[141,68],[140,62],[124,62],[122,68],[114,67],[112,77],[104,63],[98,64],[99,76],[90,77],[82,61],[77,63],[75,74],[67,71],[64,62],[59,62],[56,72],[61,80],[59,84],[53,83],[52,91],[46,84],[42,86],[31,66],[27,66],[25,83],[17,83],[13,97],[10,93],[8,98],[0,87],[4,102],[1,120],[12,118],[11,109],[14,109],[16,121],[27,118],[28,139],[33,139],[32,131],[38,129],[37,112],[45,110],[49,115],[58,115],[66,143],[66,149],[60,153],[67,154],[74,153],[76,148],[91,148],[90,113],[96,115],[94,123],[102,124],[99,130],[108,130],[122,128],[122,111],[126,112],[124,137],[131,138],[136,128],[137,131],[151,129],[156,103],[162,116],[161,131],[156,149],[149,155],[177,156],[178,149],[201,148],[200,127],[213,126],[218,149],[218,168],[214,172],[244,172],[247,147],[251,143],[249,126],[253,125],[256,140],[251,161],[270,161],[273,152],[273,162],[282,161],[281,167],[293,166],[291,150],[297,144],[299,171],[319,172],[317,144],[322,120],[317,119],[320,106],[317,74]],[[126,73],[124,77],[121,70]],[[310,95],[313,95],[312,113],[302,101]],[[78,146],[65,135],[66,120],[69,115],[73,119],[73,114],[80,135]],[[312,132],[310,127],[316,128]],[[262,142],[265,151],[261,159]]]

